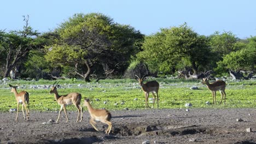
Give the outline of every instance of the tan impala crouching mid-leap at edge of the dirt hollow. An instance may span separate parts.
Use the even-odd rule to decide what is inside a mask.
[[[109,134],[112,128],[112,123],[110,122],[110,119],[112,118],[111,113],[104,109],[92,108],[91,104],[89,103],[89,99],[84,100],[84,105],[87,106],[88,111],[90,113],[90,116],[91,116],[90,124],[92,125],[92,127],[94,127],[94,129],[98,131],[98,129],[95,127],[95,124],[96,124],[95,120],[101,121],[102,123],[106,123],[108,124],[106,134]]]

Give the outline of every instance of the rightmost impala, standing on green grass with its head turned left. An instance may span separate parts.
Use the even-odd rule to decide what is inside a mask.
[[[214,99],[215,99],[215,104],[216,104],[216,91],[219,91],[220,94],[222,94],[222,99],[224,95],[224,104],[226,104],[226,93],[225,93],[225,87],[226,87],[226,82],[222,80],[215,81],[213,83],[209,83],[208,78],[203,78],[202,79],[202,84],[206,84],[207,88],[212,91],[212,100],[214,104]],[[222,99],[220,100],[220,104],[222,103]]]

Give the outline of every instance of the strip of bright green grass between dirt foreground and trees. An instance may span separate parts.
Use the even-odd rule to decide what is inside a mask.
[[[256,81],[226,81],[226,105],[206,105],[206,101],[212,103],[211,91],[200,80],[177,80],[177,79],[156,79],[160,83],[159,107],[160,109],[185,108],[185,103],[193,104],[196,108],[236,108],[256,107]],[[16,100],[13,93],[10,93],[11,85],[19,84],[18,92],[27,91],[30,93],[30,110],[32,111],[59,111],[60,106],[54,100],[54,95],[49,94],[50,88],[30,88],[32,85],[53,85],[55,81],[7,81],[0,82],[0,111],[7,112],[16,108]],[[92,106],[106,108],[109,110],[144,109],[144,93],[136,80],[102,80],[98,83],[84,82],[82,80],[61,80],[62,88],[58,88],[59,94],[79,92],[83,98],[89,98]],[[82,87],[78,85],[81,84]],[[69,87],[70,86],[70,87]],[[199,89],[191,90],[191,86]],[[137,98],[138,100],[133,100]],[[149,94],[152,98],[152,94]],[[100,101],[96,101],[99,99]],[[107,101],[107,104],[103,104]],[[220,101],[220,93],[217,92],[217,102]],[[124,102],[124,105],[121,105]],[[83,103],[83,102],[82,102]],[[115,105],[117,104],[117,105]],[[149,103],[152,106],[152,103]],[[155,104],[156,107],[156,104]],[[67,110],[76,111],[74,106],[68,106]]]

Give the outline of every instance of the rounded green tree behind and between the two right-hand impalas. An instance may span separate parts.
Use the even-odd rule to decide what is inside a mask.
[[[162,28],[161,32],[146,37],[142,49],[137,55],[138,59],[146,62],[150,69],[161,70],[165,74],[174,73],[177,65],[182,65],[184,61],[197,74],[200,66],[207,65],[211,54],[206,37],[194,32],[187,23]]]

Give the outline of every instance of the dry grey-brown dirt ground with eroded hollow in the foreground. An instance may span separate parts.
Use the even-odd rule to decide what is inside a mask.
[[[31,111],[31,121],[19,113],[0,113],[0,143],[256,143],[256,109],[149,109],[111,111],[112,132],[106,124],[89,124],[88,111],[76,123],[77,112]],[[241,118],[242,122],[236,119]],[[252,132],[246,129],[251,128]]]

